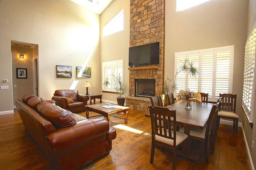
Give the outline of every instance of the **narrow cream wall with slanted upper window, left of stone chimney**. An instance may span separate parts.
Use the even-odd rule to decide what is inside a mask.
[[[116,14],[124,9],[124,30],[117,33],[102,36],[102,28]],[[126,96],[129,94],[129,45],[130,45],[130,1],[114,0],[110,6],[100,15],[100,60],[102,62],[124,59],[124,82],[127,83]],[[102,77],[101,83],[102,83]],[[117,95],[102,93],[102,99],[116,102]],[[111,98],[112,96],[112,98]]]

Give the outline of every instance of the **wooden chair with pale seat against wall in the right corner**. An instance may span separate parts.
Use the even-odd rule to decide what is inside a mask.
[[[220,125],[220,118],[232,119],[233,128],[235,132],[238,132],[238,119],[239,116],[236,114],[236,94],[220,94],[222,97],[222,104],[220,111],[218,112],[218,126]]]

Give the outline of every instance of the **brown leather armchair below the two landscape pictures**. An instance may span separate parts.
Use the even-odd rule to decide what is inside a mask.
[[[85,111],[84,106],[89,100],[88,96],[78,94],[78,90],[55,90],[53,95],[56,105],[73,113]]]

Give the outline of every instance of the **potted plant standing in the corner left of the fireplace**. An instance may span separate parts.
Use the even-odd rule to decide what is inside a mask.
[[[122,95],[125,96],[126,83],[122,82],[122,76],[120,76],[120,74],[118,74],[117,76],[112,74],[106,78],[106,80],[103,82],[103,86],[108,87],[110,85],[110,76],[112,76],[112,81],[114,81],[114,89],[117,94],[117,104],[120,106],[124,106],[125,98],[122,97]]]

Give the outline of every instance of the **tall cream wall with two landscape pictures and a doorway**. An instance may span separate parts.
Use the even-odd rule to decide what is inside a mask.
[[[57,89],[100,93],[100,16],[70,0],[0,0],[0,112],[13,110],[11,40],[38,44],[39,96]],[[56,65],[72,66],[72,78],[56,78]],[[76,78],[76,66],[92,67],[92,78]],[[8,79],[8,83],[3,80]]]

